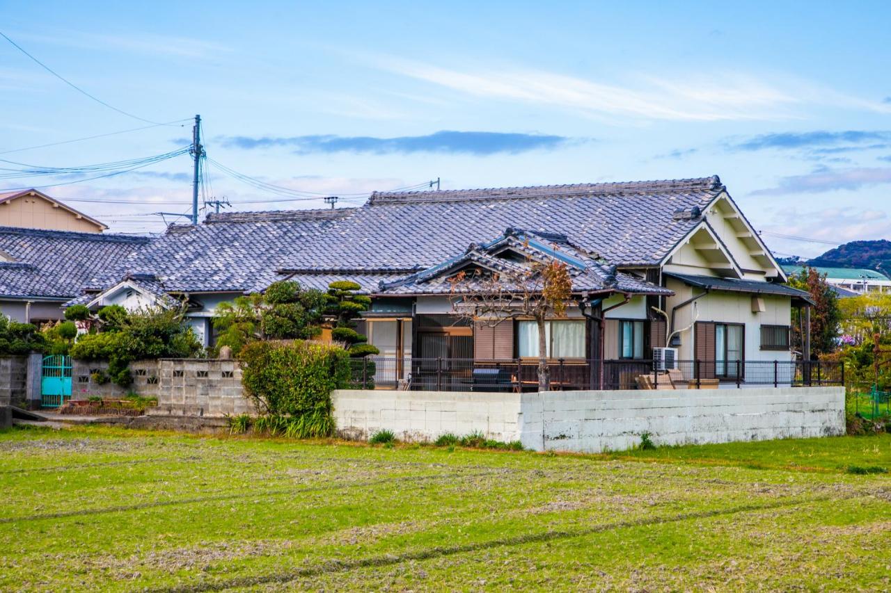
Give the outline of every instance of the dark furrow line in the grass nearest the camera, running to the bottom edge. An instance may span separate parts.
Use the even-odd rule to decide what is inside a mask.
[[[491,548],[504,548],[511,546],[520,546],[527,543],[544,543],[553,540],[566,540],[572,538],[583,537],[585,535],[593,535],[595,533],[611,532],[620,529],[629,529],[634,527],[646,527],[651,525],[681,523],[691,519],[707,519],[714,516],[730,516],[740,513],[748,513],[752,511],[772,510],[775,508],[791,508],[813,502],[826,502],[829,500],[852,500],[871,496],[871,492],[852,492],[847,496],[822,496],[813,497],[807,500],[784,500],[767,504],[748,504],[740,505],[732,508],[719,508],[707,511],[698,511],[693,513],[681,513],[674,516],[641,518],[631,521],[617,521],[614,523],[592,525],[583,529],[569,531],[547,531],[538,533],[526,533],[497,540],[478,541],[469,544],[457,546],[435,546],[433,548],[422,549],[417,552],[406,552],[405,554],[386,554],[382,556],[369,556],[365,558],[357,558],[356,560],[331,560],[322,565],[308,566],[286,573],[274,573],[266,575],[257,575],[253,577],[239,577],[228,581],[217,582],[200,582],[190,585],[180,585],[176,587],[165,587],[159,589],[145,589],[151,592],[169,592],[169,593],[186,593],[188,591],[222,591],[225,589],[235,589],[239,587],[256,587],[257,585],[266,584],[286,584],[300,578],[319,576],[325,573],[343,573],[361,568],[372,568],[389,565],[398,565],[410,561],[422,561],[443,556],[454,556],[456,554],[467,554],[470,552],[478,552]]]

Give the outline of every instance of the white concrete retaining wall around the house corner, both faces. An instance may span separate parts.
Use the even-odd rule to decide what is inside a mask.
[[[623,451],[649,433],[658,445],[843,435],[842,387],[567,391],[486,394],[335,391],[341,435],[391,430],[406,441],[481,432],[535,451]]]

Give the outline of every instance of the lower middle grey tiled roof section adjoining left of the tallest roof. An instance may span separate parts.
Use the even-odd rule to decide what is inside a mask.
[[[203,224],[176,225],[128,254],[105,287],[122,273],[154,275],[168,292],[256,292],[274,280],[353,208],[208,215]],[[342,279],[342,277],[341,277]],[[326,285],[327,286],[327,285]]]

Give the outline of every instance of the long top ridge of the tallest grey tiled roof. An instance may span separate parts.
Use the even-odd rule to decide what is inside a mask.
[[[476,190],[437,191],[374,191],[368,205],[410,202],[459,201],[467,199],[523,199],[549,196],[595,195],[624,193],[660,193],[667,191],[723,191],[717,175],[689,179],[656,181],[566,183],[561,185],[529,185],[525,187],[482,188]]]

